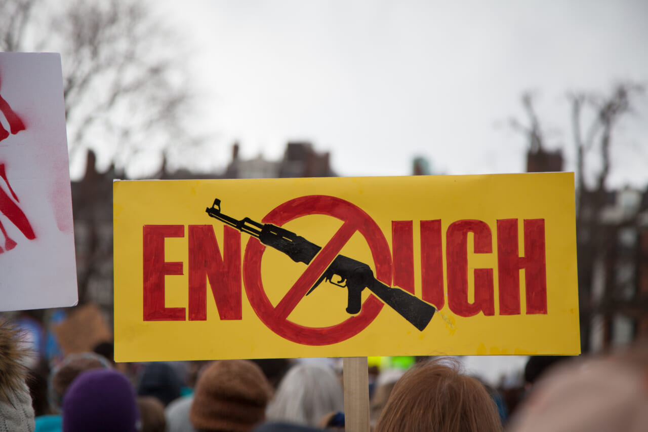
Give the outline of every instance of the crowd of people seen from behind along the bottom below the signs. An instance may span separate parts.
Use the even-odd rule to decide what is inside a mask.
[[[115,364],[104,342],[34,366],[21,337],[0,323],[0,432],[345,428],[333,359]],[[599,359],[531,357],[513,402],[452,357],[410,363],[370,365],[373,431],[648,430],[645,344]]]

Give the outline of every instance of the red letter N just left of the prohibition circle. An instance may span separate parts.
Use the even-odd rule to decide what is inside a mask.
[[[224,227],[223,255],[212,225],[189,225],[189,320],[207,319],[207,280],[222,320],[240,320],[240,232]]]

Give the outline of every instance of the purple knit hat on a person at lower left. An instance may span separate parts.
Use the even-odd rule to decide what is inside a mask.
[[[137,432],[135,390],[124,375],[110,369],[80,374],[65,392],[63,432]]]

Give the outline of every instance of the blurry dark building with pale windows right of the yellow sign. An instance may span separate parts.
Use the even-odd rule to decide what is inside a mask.
[[[648,191],[608,192],[591,232],[592,194],[583,195],[578,227],[584,348],[614,350],[648,337]]]

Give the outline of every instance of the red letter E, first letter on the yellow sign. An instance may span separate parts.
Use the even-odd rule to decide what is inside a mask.
[[[184,225],[145,225],[143,228],[144,320],[184,321],[184,307],[165,307],[165,276],[182,274],[182,263],[164,260],[164,239],[184,237]]]

